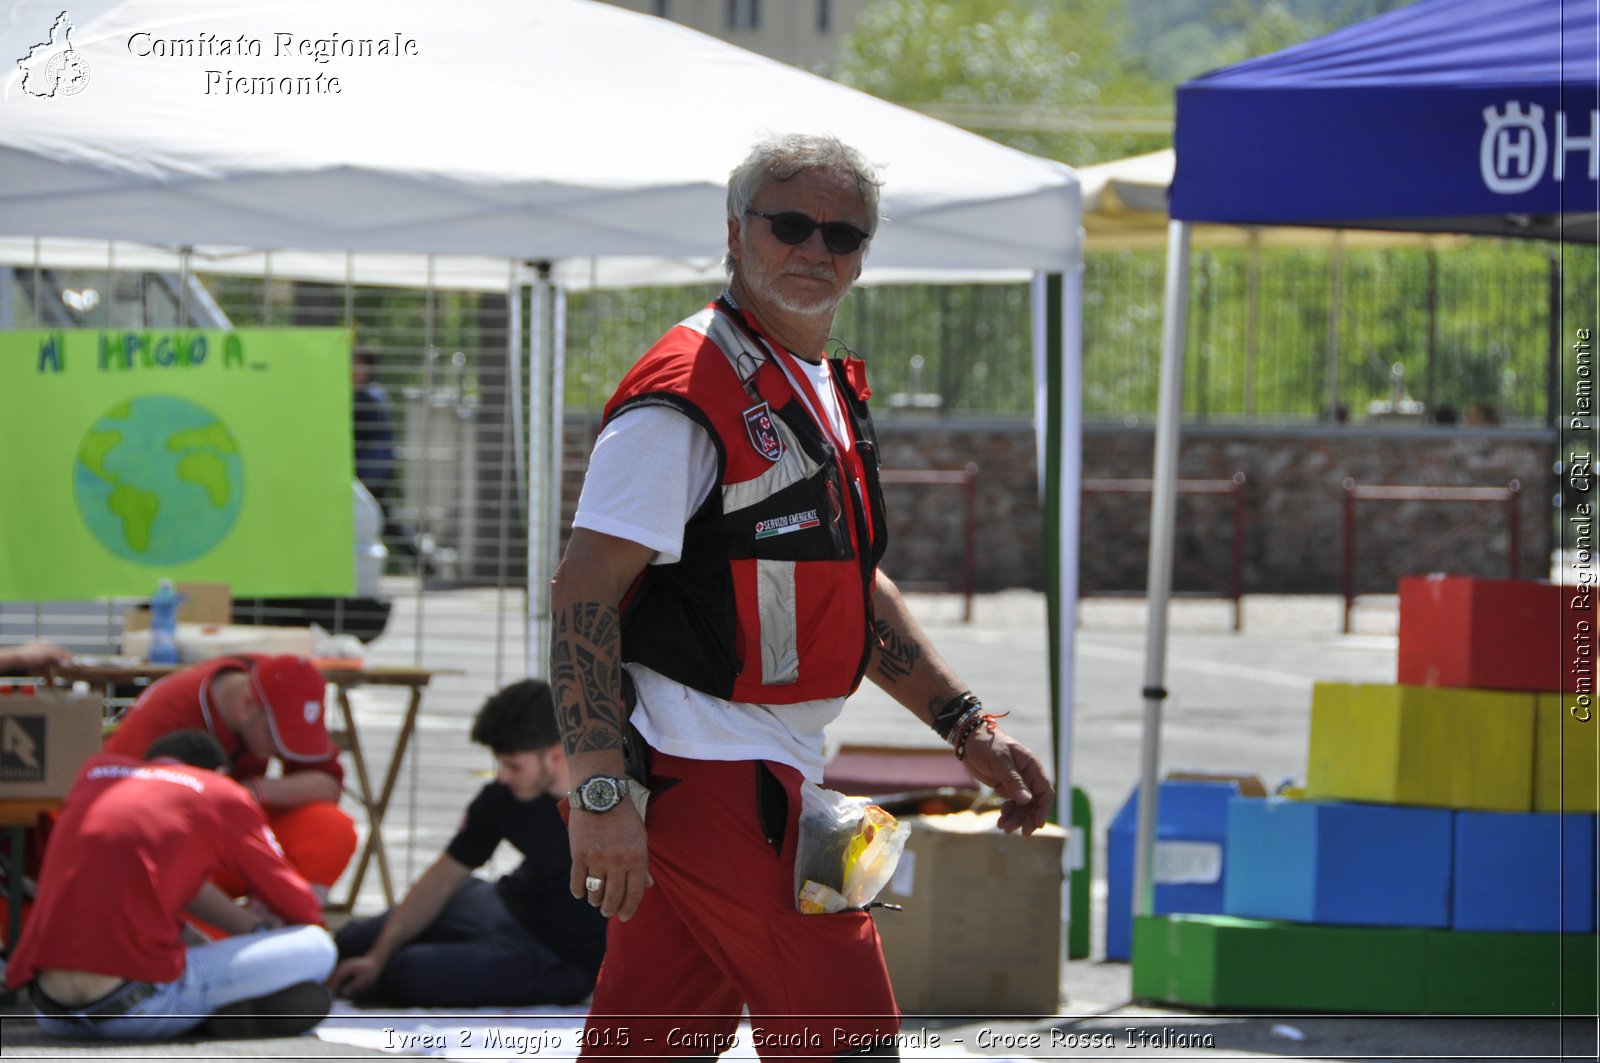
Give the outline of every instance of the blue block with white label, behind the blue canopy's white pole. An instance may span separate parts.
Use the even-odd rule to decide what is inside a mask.
[[[1232,781],[1170,780],[1157,808],[1154,914],[1219,914]],[[1106,959],[1133,953],[1133,848],[1139,831],[1139,788],[1134,786],[1106,831]],[[1163,871],[1165,869],[1165,871]]]

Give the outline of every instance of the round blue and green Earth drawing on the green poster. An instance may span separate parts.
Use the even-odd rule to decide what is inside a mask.
[[[117,557],[152,567],[194,560],[221,543],[243,488],[227,426],[174,395],[117,403],[85,432],[74,463],[83,523]]]

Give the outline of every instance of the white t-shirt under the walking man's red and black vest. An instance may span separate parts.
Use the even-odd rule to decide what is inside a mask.
[[[827,363],[779,357],[811,378],[834,435],[848,445]],[[637,407],[595,440],[573,527],[646,546],[656,551],[653,565],[667,565],[683,556],[683,527],[715,487],[717,448],[706,429],[670,407]],[[626,668],[638,695],[634,725],[653,749],[694,760],[774,760],[822,781],[822,730],[843,711],[843,698],[725,701],[643,664]]]

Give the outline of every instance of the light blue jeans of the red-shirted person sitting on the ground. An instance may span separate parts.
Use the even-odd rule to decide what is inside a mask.
[[[35,1004],[38,1028],[54,1037],[107,1037],[160,1041],[179,1037],[229,1004],[286,989],[301,981],[325,981],[336,959],[333,938],[322,927],[283,927],[262,933],[222,938],[189,949],[178,981],[130,981],[114,993],[154,989],[123,1015],[85,1018],[45,1015]],[[93,1010],[93,1009],[91,1009]]]

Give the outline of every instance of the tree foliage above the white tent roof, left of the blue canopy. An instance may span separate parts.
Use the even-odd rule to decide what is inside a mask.
[[[835,77],[1082,166],[1170,146],[1178,83],[1408,2],[867,0]]]

